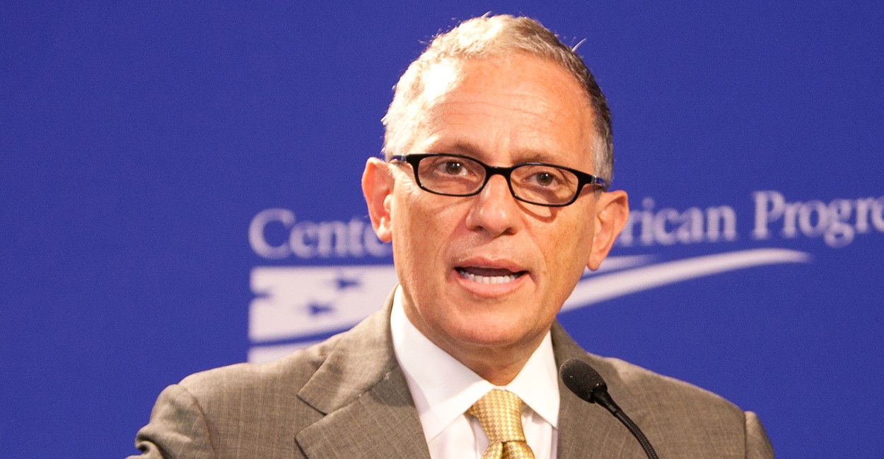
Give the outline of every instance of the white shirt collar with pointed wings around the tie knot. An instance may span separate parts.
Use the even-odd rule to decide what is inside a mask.
[[[435,438],[476,400],[496,388],[440,349],[408,320],[400,287],[393,297],[390,325],[393,351],[408,381],[426,440]],[[559,380],[549,332],[515,379],[497,388],[519,395],[531,410],[557,428]]]

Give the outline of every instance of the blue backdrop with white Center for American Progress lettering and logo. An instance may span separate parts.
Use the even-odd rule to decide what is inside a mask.
[[[884,455],[880,3],[7,2],[0,457],[131,454],[166,385],[375,309],[379,119],[486,11],[586,39],[613,109],[634,213],[572,335],[757,411],[781,457]]]

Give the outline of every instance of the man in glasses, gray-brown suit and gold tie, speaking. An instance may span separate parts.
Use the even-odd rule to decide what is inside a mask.
[[[308,350],[166,388],[136,440],[145,456],[644,457],[560,386],[558,366],[580,358],[661,457],[773,457],[751,412],[587,354],[555,322],[628,206],[606,187],[604,96],[554,35],[464,22],[411,64],[384,121],[386,161],[368,161],[362,189],[392,243],[388,304]],[[506,427],[488,414],[503,406]]]

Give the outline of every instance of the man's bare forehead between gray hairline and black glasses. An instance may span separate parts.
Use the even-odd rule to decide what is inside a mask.
[[[434,64],[422,97],[413,149],[591,168],[588,98],[550,60],[515,54]]]

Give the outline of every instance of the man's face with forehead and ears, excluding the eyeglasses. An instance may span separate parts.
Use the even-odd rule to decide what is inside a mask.
[[[593,172],[591,108],[557,64],[515,55],[437,64],[430,72],[422,117],[407,151],[397,154],[466,154],[492,166],[550,162]],[[584,267],[598,267],[607,239],[616,236],[604,228],[598,236],[600,207],[613,199],[625,212],[625,194],[597,198],[589,186],[568,207],[541,207],[515,200],[501,176],[476,196],[450,197],[418,188],[406,163],[370,161],[366,177],[370,168],[377,186],[366,195],[377,209],[378,236],[392,240],[406,314],[458,359],[535,349]]]

